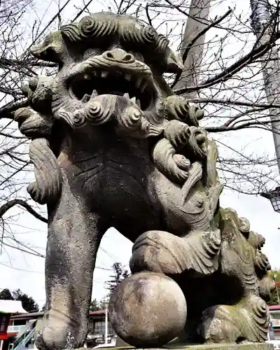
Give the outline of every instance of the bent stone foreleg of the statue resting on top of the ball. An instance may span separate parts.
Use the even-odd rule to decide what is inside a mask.
[[[146,269],[180,274],[191,269],[198,274],[212,274],[218,268],[220,230],[192,233],[181,238],[165,231],[145,232],[134,242],[130,269],[133,273]]]

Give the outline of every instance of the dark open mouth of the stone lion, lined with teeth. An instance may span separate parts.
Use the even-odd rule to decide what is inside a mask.
[[[69,90],[83,103],[99,94],[115,94],[133,99],[142,111],[152,109],[155,104],[152,79],[133,76],[130,73],[109,71],[80,73],[71,79]]]

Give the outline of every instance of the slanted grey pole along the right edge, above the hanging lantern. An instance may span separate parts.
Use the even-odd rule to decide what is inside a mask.
[[[259,40],[259,44],[269,41],[274,34],[274,20],[269,11],[268,0],[251,0],[251,26]],[[280,63],[277,46],[261,57],[262,76],[267,101],[271,104],[280,104]],[[269,109],[272,123],[277,164],[280,172],[280,109]]]

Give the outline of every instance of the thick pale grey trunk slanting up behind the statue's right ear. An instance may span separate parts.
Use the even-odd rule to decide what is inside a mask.
[[[211,0],[191,0],[189,17],[186,22],[185,32],[181,45],[181,55],[183,57],[186,48],[193,41],[195,36],[199,34],[205,27],[209,25],[209,10]],[[186,86],[197,85],[200,80],[200,69],[203,59],[205,35],[195,41],[195,45],[190,48],[183,70],[181,79],[176,84],[176,89]],[[189,92],[188,98],[192,99],[196,96],[196,92]]]

